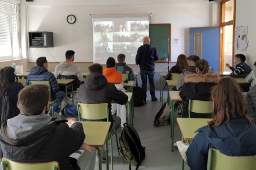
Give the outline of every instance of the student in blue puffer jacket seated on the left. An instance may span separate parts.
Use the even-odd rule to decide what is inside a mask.
[[[36,60],[36,65],[30,70],[30,74],[27,77],[26,86],[29,85],[30,81],[49,81],[51,85],[51,99],[59,99],[59,102],[62,102],[62,100],[65,97],[65,93],[62,91],[59,91],[59,84],[54,77],[53,73],[47,70],[48,68],[48,61],[46,60],[46,57],[39,57]],[[49,110],[49,115],[52,115],[51,113],[52,109]],[[55,102],[53,105],[53,111],[56,113],[59,113],[61,110],[59,109],[59,103]]]

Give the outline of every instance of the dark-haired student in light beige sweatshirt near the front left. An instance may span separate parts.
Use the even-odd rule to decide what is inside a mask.
[[[73,81],[73,91],[77,91],[77,88],[80,86],[80,81],[83,81],[83,75],[81,73],[80,68],[75,65],[75,52],[72,50],[66,51],[66,61],[59,63],[55,67],[54,76],[58,79],[75,79]],[[62,89],[62,91],[65,91],[65,89]]]

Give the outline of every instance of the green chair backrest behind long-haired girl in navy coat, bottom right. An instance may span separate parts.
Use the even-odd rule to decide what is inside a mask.
[[[226,156],[218,150],[210,148],[208,151],[207,170],[254,170],[255,156]]]

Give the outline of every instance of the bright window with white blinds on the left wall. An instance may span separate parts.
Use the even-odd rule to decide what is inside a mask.
[[[17,4],[0,1],[0,60],[19,56]]]

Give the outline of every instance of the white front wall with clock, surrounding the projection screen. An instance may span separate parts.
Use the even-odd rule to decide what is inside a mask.
[[[99,5],[100,4],[100,5]],[[52,31],[54,47],[29,48],[29,60],[46,56],[49,62],[61,62],[68,49],[75,51],[75,62],[93,61],[92,18],[90,14],[149,14],[150,23],[171,23],[171,38],[179,38],[181,45],[171,44],[171,61],[179,54],[188,55],[188,28],[195,26],[218,26],[219,2],[207,0],[161,1],[82,1],[82,0],[36,0],[26,2],[27,31]],[[74,14],[77,22],[70,25],[66,17]],[[27,34],[27,33],[26,33]],[[156,71],[163,71],[158,64]],[[166,64],[165,64],[166,65]]]

